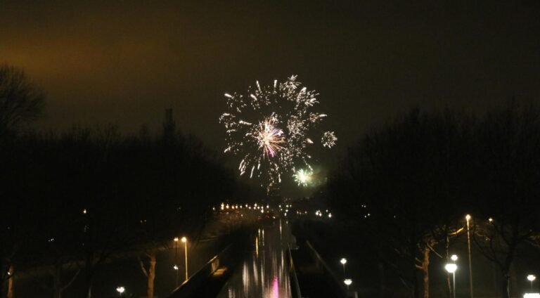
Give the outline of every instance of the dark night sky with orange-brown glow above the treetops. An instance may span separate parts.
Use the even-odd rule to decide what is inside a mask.
[[[414,104],[538,100],[536,3],[0,0],[0,63],[45,89],[41,128],[158,131],[170,106],[218,148],[224,92],[298,74],[321,93],[339,153]]]

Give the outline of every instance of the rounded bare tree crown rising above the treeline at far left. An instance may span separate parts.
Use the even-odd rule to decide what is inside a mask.
[[[45,95],[23,72],[0,66],[0,133],[41,115]]]

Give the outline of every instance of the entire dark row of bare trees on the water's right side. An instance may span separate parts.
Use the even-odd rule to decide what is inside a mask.
[[[513,101],[481,118],[411,110],[349,148],[328,195],[413,297],[429,297],[430,257],[448,258],[474,214],[477,250],[508,298],[516,251],[539,243],[538,181],[540,110]]]

